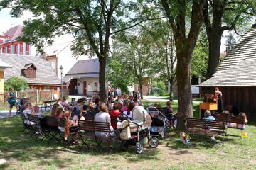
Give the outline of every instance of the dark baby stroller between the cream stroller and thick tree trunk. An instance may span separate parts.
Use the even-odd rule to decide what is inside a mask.
[[[163,139],[166,135],[169,120],[163,113],[161,113],[161,111],[157,110],[156,108],[148,108],[147,110],[152,118],[150,134],[154,136],[160,136]]]

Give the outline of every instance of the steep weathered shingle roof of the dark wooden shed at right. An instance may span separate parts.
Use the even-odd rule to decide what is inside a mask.
[[[256,24],[238,40],[213,77],[199,86],[256,86]]]

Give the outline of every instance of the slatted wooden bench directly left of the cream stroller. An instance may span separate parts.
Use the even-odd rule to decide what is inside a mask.
[[[110,123],[95,122],[94,120],[78,120],[79,134],[83,145],[87,144],[88,139],[94,139],[97,143],[97,147],[102,147],[102,140],[117,140],[116,136],[112,136],[112,131],[110,129]]]

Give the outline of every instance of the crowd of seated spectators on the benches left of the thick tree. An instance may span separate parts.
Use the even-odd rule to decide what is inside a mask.
[[[150,107],[159,108],[160,105],[149,103]],[[171,102],[166,103],[166,110],[170,113],[170,119],[174,120],[174,110],[171,108]],[[26,118],[28,118],[27,114],[38,115],[41,125],[45,125],[46,120],[43,113],[39,113],[38,108],[33,107],[29,99],[24,101],[22,112]],[[68,102],[66,98],[62,98],[53,104],[50,109],[51,117],[65,118],[65,128],[60,128],[60,130],[65,132],[66,140],[71,135],[73,142],[78,142],[76,135],[78,131],[78,120],[85,120],[85,114],[86,116],[90,115],[92,120],[110,123],[112,135],[114,135],[117,125],[111,123],[111,118],[116,118],[120,114],[130,120],[144,122],[148,128],[150,128],[152,123],[151,115],[146,111],[137,95],[128,96],[127,94],[121,94],[116,98],[110,96],[107,98],[106,103],[101,102],[97,96],[90,99],[79,98],[75,103]],[[30,124],[28,120],[26,124]]]

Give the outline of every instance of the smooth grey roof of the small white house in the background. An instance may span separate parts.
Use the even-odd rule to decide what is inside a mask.
[[[88,59],[78,60],[70,71],[65,74],[63,81],[69,81],[73,78],[99,77],[99,60]]]

